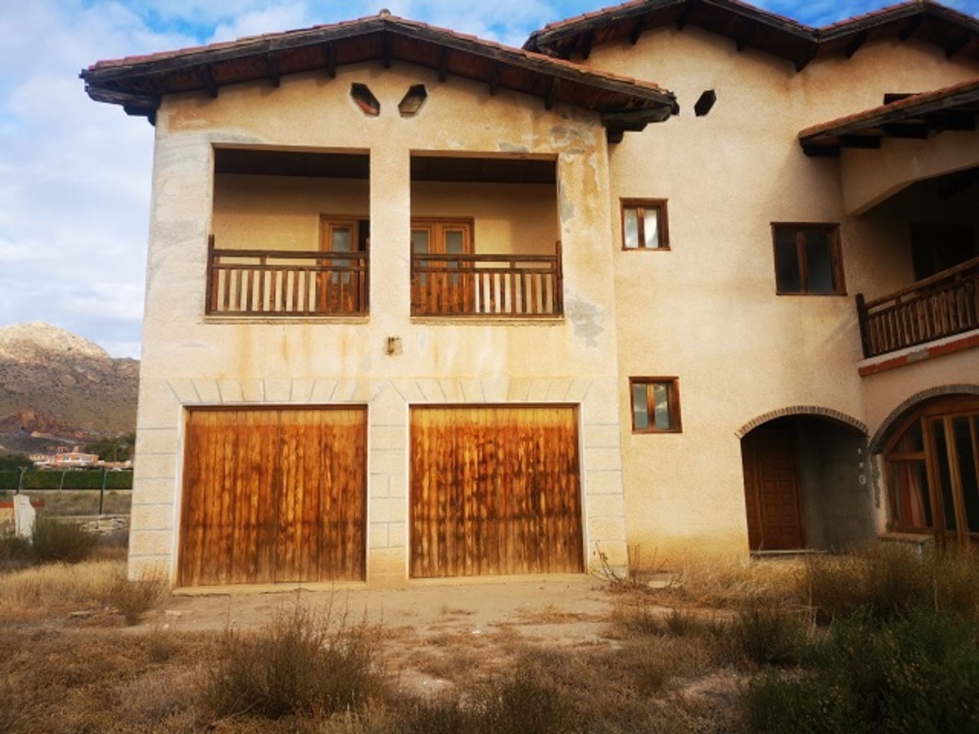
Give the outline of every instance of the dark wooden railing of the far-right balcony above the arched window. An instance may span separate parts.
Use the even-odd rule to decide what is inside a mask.
[[[860,294],[857,313],[864,357],[979,329],[979,257],[884,298]]]

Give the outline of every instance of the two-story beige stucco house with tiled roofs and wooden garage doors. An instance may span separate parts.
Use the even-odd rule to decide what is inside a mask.
[[[156,130],[130,573],[979,537],[979,22],[629,2],[100,62]]]

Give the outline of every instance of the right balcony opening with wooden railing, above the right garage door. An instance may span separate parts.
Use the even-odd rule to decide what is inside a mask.
[[[556,162],[411,158],[411,313],[561,315]]]

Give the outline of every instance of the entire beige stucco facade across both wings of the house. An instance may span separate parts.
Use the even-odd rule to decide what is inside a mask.
[[[885,204],[848,216],[841,162],[805,157],[796,136],[816,122],[874,107],[885,92],[943,86],[979,69],[949,62],[930,46],[883,41],[867,43],[849,61],[819,61],[797,74],[788,62],[752,50],[738,54],[728,39],[672,27],[644,33],[634,47],[596,48],[588,63],[663,83],[676,91],[682,114],[641,134],[627,133],[609,148],[594,115],[560,107],[546,112],[540,100],[505,90],[489,96],[485,85],[453,77],[440,83],[434,72],[397,64],[343,68],[334,80],[287,76],[278,89],[259,82],[222,87],[216,100],[203,94],[164,100],[132,573],[173,568],[181,422],[190,405],[367,403],[368,579],[393,583],[406,575],[411,403],[581,404],[590,562],[596,542],[621,562],[627,539],[642,547],[644,558],[676,562],[747,552],[735,432],[749,421],[789,406],[814,406],[850,416],[872,432],[903,392],[956,376],[960,382],[963,371],[974,370],[975,357],[961,355],[893,375],[858,376],[852,297],[909,282],[908,243],[896,244],[896,233],[906,223],[902,216],[912,214],[888,213]],[[348,95],[352,81],[370,85],[382,102],[380,116],[357,110]],[[428,102],[420,115],[402,119],[396,102],[418,82],[428,86]],[[717,91],[718,103],[697,118],[692,105],[705,89]],[[363,182],[345,182],[345,190],[335,192],[371,219],[369,319],[255,324],[205,318],[207,235],[211,226],[220,232],[228,211],[226,203],[211,201],[213,145],[369,153],[366,189]],[[413,185],[412,151],[556,156],[556,197],[554,187],[544,187],[546,195],[528,189],[507,199],[502,189],[487,197],[475,186]],[[622,197],[669,199],[671,252],[621,252]],[[307,248],[310,237],[315,242],[310,214],[320,210],[320,194],[291,201],[301,210],[285,229],[295,233],[296,247]],[[278,213],[284,206],[273,208]],[[412,321],[409,221],[437,213],[475,216],[480,250],[488,241],[509,237],[512,243],[517,229],[539,233],[529,239],[548,246],[560,239],[566,318]],[[775,296],[773,221],[840,222],[848,296]],[[238,219],[228,226],[254,232],[258,225]],[[521,252],[536,252],[532,247],[520,244]],[[401,339],[400,353],[385,353],[389,337]],[[631,434],[630,375],[679,378],[682,434]]]

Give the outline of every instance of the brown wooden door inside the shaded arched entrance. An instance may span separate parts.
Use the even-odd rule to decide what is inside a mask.
[[[741,444],[751,549],[802,548],[793,433],[787,429],[756,429]]]

